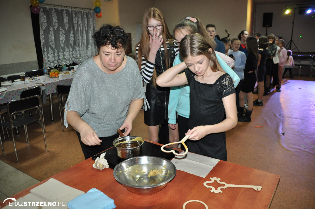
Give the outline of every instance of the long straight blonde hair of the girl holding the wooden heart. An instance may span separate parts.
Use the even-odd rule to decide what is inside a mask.
[[[212,50],[209,51],[210,48]],[[218,62],[214,48],[212,48],[207,39],[199,33],[187,35],[181,40],[179,54],[184,60],[188,56],[196,57],[199,55],[205,55],[210,60],[210,67],[212,71],[221,71],[225,73]]]

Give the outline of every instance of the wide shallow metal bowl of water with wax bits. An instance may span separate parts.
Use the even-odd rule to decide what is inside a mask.
[[[152,170],[162,174],[148,177]],[[163,189],[176,175],[175,165],[162,157],[137,156],[120,162],[114,168],[114,177],[129,191],[151,195]]]

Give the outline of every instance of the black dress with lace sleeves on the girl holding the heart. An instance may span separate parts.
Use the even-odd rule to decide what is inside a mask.
[[[232,78],[225,73],[215,83],[206,84],[196,81],[194,76],[191,71],[186,71],[190,85],[188,128],[220,123],[226,118],[222,98],[235,93]],[[225,132],[211,133],[198,141],[186,142],[190,152],[227,160]]]

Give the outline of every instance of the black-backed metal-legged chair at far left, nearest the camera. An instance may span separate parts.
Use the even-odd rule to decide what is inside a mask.
[[[16,151],[13,129],[16,127],[24,126],[26,141],[29,144],[27,125],[31,124],[33,122],[36,122],[37,119],[30,117],[30,116],[24,116],[24,115],[22,117],[18,117],[16,119],[14,119],[13,116],[19,112],[25,112],[25,111],[32,110],[32,109],[37,109],[39,112],[39,119],[42,119],[43,114],[42,114],[42,109],[40,106],[41,106],[41,99],[38,95],[26,97],[23,99],[12,100],[8,103],[9,121],[0,123],[0,126],[11,130],[15,156],[16,156],[16,160],[18,162],[19,162],[19,158],[18,158],[18,154]],[[42,127],[42,129],[43,129],[43,135],[44,135],[45,148],[47,150],[44,127]],[[1,135],[0,135],[0,142],[1,142],[1,146],[2,146]],[[2,152],[4,153],[3,147],[2,147]]]

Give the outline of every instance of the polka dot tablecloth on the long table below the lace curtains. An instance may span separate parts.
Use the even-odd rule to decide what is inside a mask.
[[[59,80],[59,77],[49,77],[44,76],[44,86],[42,83],[39,83],[39,80],[33,81],[30,83],[19,83],[13,84],[11,86],[2,86],[0,89],[6,88],[7,90],[0,92],[0,104],[8,103],[11,100],[20,99],[20,93],[24,89],[32,88],[35,86],[41,86],[43,91],[46,91],[46,94],[52,94],[56,92],[56,86],[61,85],[71,85],[73,76],[67,75],[64,79]],[[1,82],[1,84],[11,83],[11,81]]]

